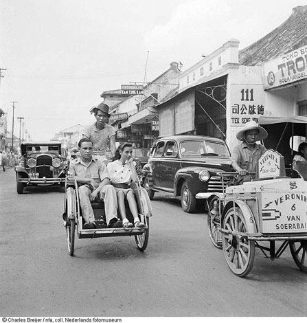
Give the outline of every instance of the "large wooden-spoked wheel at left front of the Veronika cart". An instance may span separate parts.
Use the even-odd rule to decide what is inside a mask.
[[[223,252],[230,270],[239,277],[245,277],[253,267],[255,242],[236,232],[247,232],[245,219],[239,208],[230,208],[223,220],[223,229],[233,233],[222,233]]]

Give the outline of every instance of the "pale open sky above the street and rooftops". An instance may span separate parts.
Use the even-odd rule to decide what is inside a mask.
[[[239,49],[307,0],[0,0],[0,107],[32,140],[94,122],[103,91],[183,71],[231,38]],[[146,69],[146,59],[148,64]]]

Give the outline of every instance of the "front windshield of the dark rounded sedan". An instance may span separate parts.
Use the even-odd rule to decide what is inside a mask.
[[[196,156],[219,156],[229,157],[227,146],[222,142],[213,142],[205,140],[197,140],[190,142],[181,142],[181,155],[186,157]]]

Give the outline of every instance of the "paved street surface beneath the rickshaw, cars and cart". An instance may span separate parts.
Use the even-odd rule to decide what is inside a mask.
[[[209,241],[206,216],[176,199],[152,201],[150,239],[76,241],[69,256],[64,193],[29,188],[18,195],[14,170],[0,172],[0,315],[306,316],[307,275],[288,250],[271,262],[256,251],[245,279],[231,274]]]

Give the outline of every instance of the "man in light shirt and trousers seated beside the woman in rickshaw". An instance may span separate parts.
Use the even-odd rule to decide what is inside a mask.
[[[91,201],[98,195],[104,200],[106,223],[109,227],[122,227],[122,221],[117,219],[117,196],[111,185],[106,165],[103,161],[92,158],[93,142],[82,138],[78,143],[80,157],[71,161],[69,175],[76,178],[81,186],[79,190],[80,208],[84,218],[84,229],[95,228],[95,216]]]

